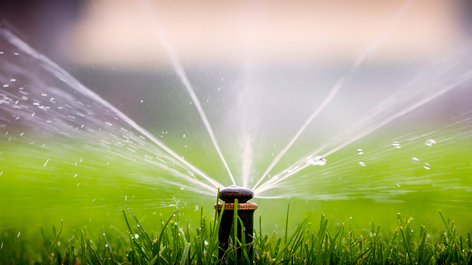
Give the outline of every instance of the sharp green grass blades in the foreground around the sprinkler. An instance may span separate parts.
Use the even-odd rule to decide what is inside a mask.
[[[127,213],[126,213],[127,212]],[[290,212],[287,210],[287,220]],[[410,226],[412,219],[406,220],[400,214],[398,227],[384,236],[380,225],[371,227],[368,234],[356,234],[353,220],[341,224],[337,230],[330,227],[325,215],[320,224],[307,223],[307,217],[288,232],[279,237],[276,232],[264,234],[253,231],[253,243],[239,241],[234,232],[229,239],[229,247],[223,259],[218,259],[219,215],[215,211],[213,221],[207,221],[201,208],[200,225],[191,232],[187,221],[183,222],[179,209],[168,219],[160,218],[157,232],[146,232],[131,209],[123,210],[123,222],[127,232],[115,229],[96,233],[86,226],[72,231],[67,244],[60,244],[64,238],[62,224],[58,232],[53,226],[53,236],[47,236],[41,228],[42,239],[31,239],[18,243],[16,235],[3,231],[1,235],[0,264],[89,264],[89,265],[217,265],[217,264],[258,264],[258,265],[450,265],[470,264],[472,254],[470,234],[463,238],[456,233],[454,221],[449,224],[441,211],[439,215],[445,225],[445,232],[435,238],[430,228],[421,226],[414,232]],[[133,219],[132,222],[131,219]],[[232,227],[242,224],[233,218]],[[331,232],[329,232],[331,231]],[[19,235],[18,235],[19,236]],[[62,237],[61,237],[62,236]],[[70,239],[69,239],[70,238]],[[34,242],[42,243],[34,244]],[[236,242],[236,244],[234,243]],[[235,247],[236,245],[236,247]],[[253,248],[255,251],[248,251]],[[240,257],[236,254],[242,249]],[[252,256],[248,256],[252,253]]]

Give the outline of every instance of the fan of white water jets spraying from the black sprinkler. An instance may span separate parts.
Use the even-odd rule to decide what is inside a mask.
[[[120,175],[143,185],[158,185],[160,190],[188,190],[204,196],[214,196],[219,187],[231,183],[252,186],[256,198],[261,199],[367,198],[399,202],[401,200],[395,198],[398,195],[421,190],[472,191],[472,186],[464,177],[466,172],[470,172],[470,161],[466,161],[468,164],[464,162],[465,159],[459,164],[440,165],[441,158],[446,154],[460,157],[470,152],[472,112],[469,107],[472,106],[450,111],[455,108],[454,104],[458,102],[456,99],[471,97],[470,43],[465,41],[460,49],[451,52],[447,58],[434,58],[430,64],[418,67],[420,70],[416,69],[416,75],[405,78],[408,80],[399,82],[396,87],[386,85],[378,87],[378,91],[362,95],[362,100],[355,103],[361,107],[365,105],[365,109],[359,111],[360,115],[347,110],[344,117],[338,115],[338,110],[334,109],[337,107],[332,106],[340,106],[339,102],[335,104],[336,100],[350,97],[352,83],[359,82],[355,78],[362,75],[363,62],[408,11],[412,1],[404,3],[384,31],[356,57],[350,67],[337,76],[334,85],[329,85],[329,90],[316,93],[322,96],[321,99],[307,99],[316,102],[312,106],[315,111],[308,119],[305,120],[307,114],[294,115],[294,112],[287,110],[288,107],[273,104],[274,108],[298,116],[294,122],[295,129],[287,124],[290,133],[286,136],[289,137],[277,139],[284,146],[278,152],[275,151],[278,150],[275,141],[271,141],[268,136],[270,133],[264,134],[263,128],[260,129],[261,124],[264,124],[263,114],[253,111],[265,104],[250,100],[250,97],[255,97],[253,90],[257,87],[254,78],[235,74],[234,79],[248,78],[251,82],[239,91],[237,86],[244,83],[242,81],[234,82],[233,88],[225,87],[225,93],[227,90],[231,92],[231,89],[238,91],[240,100],[236,100],[234,108],[221,108],[228,110],[224,115],[237,116],[233,121],[250,120],[256,125],[246,127],[236,123],[222,129],[225,127],[223,123],[212,120],[214,114],[209,115],[211,104],[206,105],[205,100],[209,102],[210,96],[208,99],[203,98],[202,89],[196,85],[198,81],[191,82],[192,77],[188,73],[193,69],[187,71],[180,62],[177,51],[162,33],[159,18],[152,12],[150,3],[146,0],[140,2],[144,10],[149,11],[146,14],[153,21],[155,33],[168,53],[173,66],[172,75],[178,76],[187,92],[182,99],[185,105],[188,102],[185,110],[196,108],[195,113],[198,113],[212,147],[205,145],[203,138],[202,144],[207,150],[216,150],[218,159],[214,159],[208,151],[206,155],[209,160],[212,159],[210,165],[203,166],[196,158],[185,159],[187,155],[202,157],[205,154],[203,150],[198,154],[196,151],[194,154],[191,151],[174,151],[174,147],[169,147],[173,146],[172,142],[165,143],[167,132],[163,131],[160,135],[150,132],[152,126],[149,124],[135,123],[125,114],[125,110],[113,106],[98,93],[85,87],[7,28],[0,28],[1,141],[5,145],[14,143],[17,146],[28,146],[18,154],[19,157],[30,156],[25,158],[26,164],[28,161],[41,160],[44,169],[50,166],[51,171],[58,172],[61,165],[67,165],[69,174],[69,166],[80,165],[89,159],[93,160],[87,168],[89,173],[108,174],[110,171],[106,166],[111,164],[119,168]],[[254,74],[249,70],[242,72],[244,75]],[[156,91],[158,87],[156,84]],[[211,89],[220,91],[220,87],[217,87],[218,91]],[[283,93],[289,93],[289,90]],[[294,96],[300,102],[306,97],[303,94]],[[261,98],[268,99],[270,95],[264,94]],[[225,106],[223,96],[219,99],[218,104]],[[432,109],[436,113],[449,111],[451,114],[446,115],[449,120],[419,124],[411,130],[404,126],[410,121],[421,123],[415,115],[418,116],[421,111],[431,112]],[[229,114],[231,110],[235,114]],[[226,119],[224,115],[221,116]],[[333,126],[327,122],[326,116],[337,116],[342,122]],[[328,129],[320,129],[320,125]],[[393,129],[395,126],[410,131],[405,130],[400,134]],[[235,130],[238,127],[243,129]],[[317,128],[320,130],[314,131]],[[187,139],[192,137],[187,128],[185,131]],[[197,138],[196,134],[194,138]],[[230,149],[235,144],[239,144],[240,148]],[[186,144],[183,146],[184,150],[188,148]],[[27,151],[29,149],[33,151]],[[70,155],[74,153],[77,155]],[[84,162],[83,156],[88,156]],[[18,163],[21,162],[18,159]],[[53,163],[56,164],[52,166]],[[219,163],[223,164],[226,172],[215,167]],[[22,166],[31,170],[38,167]],[[206,170],[213,167],[219,175],[205,173],[202,166]],[[235,177],[231,169],[237,172],[236,167],[241,169]],[[1,175],[8,168],[0,170],[3,170]],[[67,178],[76,180],[77,187],[87,178],[92,179],[80,172],[67,175]]]

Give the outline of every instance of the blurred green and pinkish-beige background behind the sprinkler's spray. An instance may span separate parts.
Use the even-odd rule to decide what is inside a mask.
[[[470,1],[20,0],[2,4],[0,17],[2,28],[222,186],[232,184],[228,171],[174,59],[238,185],[251,188],[266,175],[326,103],[261,184],[306,165],[314,151],[328,154],[327,164],[294,172],[258,194],[263,198],[254,202],[263,219],[280,213],[266,217],[264,229],[283,227],[289,201],[290,225],[325,212],[335,223],[353,216],[357,228],[374,222],[394,228],[397,212],[425,224],[439,222],[443,209],[460,219],[459,229],[470,228]],[[4,100],[27,84],[38,97],[48,89],[63,91],[64,104],[92,101],[37,70],[38,60],[23,59],[21,52],[15,57],[17,47],[1,42]],[[18,75],[13,66],[26,70]],[[90,104],[93,124],[110,121],[108,110]],[[109,155],[89,134],[58,137],[59,129],[44,125],[58,118],[51,112],[40,123],[0,110],[3,227],[58,224],[61,218],[69,227],[123,227],[125,205],[149,224],[158,218],[154,213],[170,214],[177,204],[192,222],[199,222],[201,203],[211,215],[214,191],[192,190],[194,183],[136,164],[149,151],[168,155],[154,143],[143,143],[149,151],[138,158]],[[428,139],[436,144],[426,145]],[[177,170],[187,174],[183,168]]]

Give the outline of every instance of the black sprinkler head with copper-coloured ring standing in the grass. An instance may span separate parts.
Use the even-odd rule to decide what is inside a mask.
[[[243,227],[240,223],[237,222],[237,238],[241,240],[241,230],[245,234],[246,244],[253,241],[253,228],[254,228],[254,211],[257,209],[257,204],[253,202],[247,202],[252,199],[254,192],[250,189],[238,187],[236,185],[231,185],[227,188],[224,188],[219,191],[219,199],[225,202],[225,209],[223,211],[223,216],[221,217],[221,224],[219,225],[218,240],[219,247],[226,250],[228,249],[228,237],[231,232],[231,225],[233,224],[233,215],[235,207],[235,199],[238,200],[237,205],[237,215],[243,221]],[[223,203],[215,204],[215,209],[218,207],[218,213],[221,212],[221,207]],[[218,258],[222,258],[225,254],[225,251],[218,250]],[[248,256],[252,257],[253,247],[248,248]],[[241,248],[237,250],[237,257],[241,257]]]

